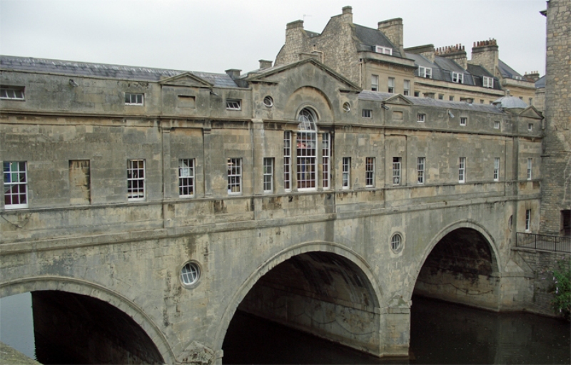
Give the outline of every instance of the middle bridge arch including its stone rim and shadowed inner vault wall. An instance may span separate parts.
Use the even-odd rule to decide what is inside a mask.
[[[299,281],[295,282],[297,275]],[[282,302],[293,303],[293,310],[300,307],[319,308],[306,323],[303,320],[288,319],[287,314],[273,316],[272,308],[264,312],[264,296],[273,297],[276,291],[287,288]],[[283,290],[281,290],[283,292]],[[216,349],[222,349],[231,319],[238,307],[246,312],[255,312],[273,322],[308,331],[316,336],[330,339],[346,346],[380,354],[380,309],[383,290],[375,279],[366,260],[347,247],[333,242],[306,242],[289,247],[261,264],[236,291],[226,308],[216,334]],[[275,297],[275,296],[274,296]],[[321,319],[351,317],[354,323],[328,323],[320,326]],[[333,315],[334,314],[334,315]],[[272,317],[273,316],[273,317]],[[298,316],[303,317],[303,316]],[[319,317],[319,318],[318,318]],[[366,318],[366,320],[365,320]],[[310,323],[310,324],[308,324]],[[353,338],[345,327],[354,324]]]

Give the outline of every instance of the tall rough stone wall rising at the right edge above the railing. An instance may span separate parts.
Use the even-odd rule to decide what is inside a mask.
[[[541,231],[560,235],[571,209],[571,1],[547,2],[547,80]]]

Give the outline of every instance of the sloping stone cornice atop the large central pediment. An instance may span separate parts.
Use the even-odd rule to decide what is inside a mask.
[[[338,81],[338,83],[340,83],[340,86],[338,89],[342,92],[360,93],[360,91],[363,90],[362,88],[360,88],[355,83],[349,81],[348,78],[345,78],[340,73],[337,73],[336,71],[334,71],[332,68],[329,68],[328,66],[325,66],[323,63],[320,63],[319,61],[315,60],[315,58],[306,58],[306,59],[301,60],[301,61],[288,63],[287,65],[275,66],[275,67],[268,68],[266,70],[258,71],[256,73],[253,73],[252,76],[248,76],[248,78],[246,78],[246,81],[249,83],[250,82],[251,83],[278,83],[276,81],[276,78],[274,78],[273,76],[276,76],[276,74],[278,74],[278,73],[293,72],[298,68],[304,67],[305,65],[309,65],[309,66],[313,66],[315,68],[319,68],[321,71],[323,71],[323,73],[334,78],[336,81]]]

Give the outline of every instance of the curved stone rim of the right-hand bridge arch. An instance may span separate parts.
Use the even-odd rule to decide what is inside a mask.
[[[436,245],[438,245],[438,242],[440,242],[440,240],[442,240],[446,235],[448,235],[450,232],[453,232],[455,230],[458,230],[460,228],[470,228],[472,230],[475,230],[476,232],[480,233],[480,235],[482,235],[482,237],[485,238],[485,240],[487,241],[487,244],[490,246],[490,251],[492,252],[492,269],[494,272],[501,272],[502,271],[502,264],[500,262],[500,253],[497,250],[497,244],[495,242],[495,240],[493,239],[492,235],[490,234],[490,232],[488,232],[484,226],[480,225],[477,222],[474,222],[473,220],[459,220],[457,222],[453,222],[450,225],[444,227],[442,230],[440,230],[434,237],[432,240],[430,240],[430,243],[428,245],[426,245],[424,251],[423,251],[423,255],[422,255],[422,259],[420,259],[420,261],[418,262],[418,265],[415,267],[415,271],[413,272],[414,276],[412,277],[411,280],[409,280],[408,282],[408,287],[407,289],[407,298],[408,300],[410,300],[413,297],[413,291],[415,288],[415,284],[416,281],[418,280],[418,277],[420,275],[420,269],[423,268],[426,259],[428,259],[428,256],[430,255],[431,252],[433,252],[434,247]]]

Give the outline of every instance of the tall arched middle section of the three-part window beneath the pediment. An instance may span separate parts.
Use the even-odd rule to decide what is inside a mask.
[[[311,108],[303,108],[298,114],[297,168],[298,190],[315,189],[317,170],[317,115]]]

